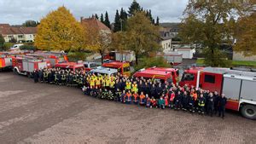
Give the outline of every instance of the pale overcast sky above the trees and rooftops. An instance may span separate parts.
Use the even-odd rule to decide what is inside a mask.
[[[51,10],[64,5],[79,20],[80,16],[108,11],[113,22],[116,9],[128,9],[133,0],[0,0],[0,23],[20,25],[26,20],[40,20]],[[178,22],[188,0],[137,0],[144,9],[151,9],[160,22]]]

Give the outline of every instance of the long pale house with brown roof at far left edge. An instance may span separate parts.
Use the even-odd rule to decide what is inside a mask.
[[[37,27],[15,27],[9,24],[0,24],[0,34],[5,42],[15,39],[18,43],[34,42]]]

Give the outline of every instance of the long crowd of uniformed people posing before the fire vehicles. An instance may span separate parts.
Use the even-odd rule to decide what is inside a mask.
[[[84,95],[99,99],[119,101],[148,108],[171,108],[187,112],[198,112],[211,117],[218,114],[224,118],[227,99],[224,94],[189,87],[150,78],[126,77],[120,73],[116,76],[102,75],[84,71],[73,72],[58,68],[34,72],[34,81],[60,84],[81,88]]]

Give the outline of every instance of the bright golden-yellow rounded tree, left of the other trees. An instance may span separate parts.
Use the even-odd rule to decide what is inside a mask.
[[[38,26],[35,46],[44,50],[81,50],[85,48],[84,28],[65,7],[47,14]]]

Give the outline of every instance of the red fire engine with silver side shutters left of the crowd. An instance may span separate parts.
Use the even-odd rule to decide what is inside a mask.
[[[15,74],[32,76],[34,70],[51,68],[49,60],[39,60],[28,56],[15,56],[12,59]]]

